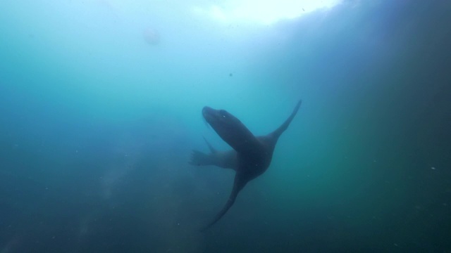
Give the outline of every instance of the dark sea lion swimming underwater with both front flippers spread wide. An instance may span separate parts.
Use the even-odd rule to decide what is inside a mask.
[[[226,110],[214,110],[208,106],[202,109],[202,116],[206,122],[233,150],[217,151],[205,140],[211,153],[204,154],[193,150],[190,164],[197,166],[215,165],[221,168],[234,169],[236,173],[232,192],[226,205],[201,231],[205,231],[221,219],[228,209],[232,207],[238,193],[246,186],[246,183],[257,178],[257,176],[260,176],[268,169],[278,138],[290,125],[301,103],[302,100],[299,100],[290,117],[278,129],[266,136],[254,136],[240,122],[240,119],[237,119]]]

